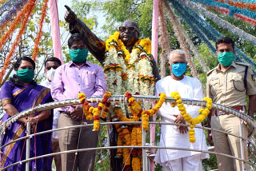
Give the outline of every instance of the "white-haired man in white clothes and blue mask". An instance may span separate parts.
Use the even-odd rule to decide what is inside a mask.
[[[178,92],[182,98],[194,100],[202,99],[202,85],[197,78],[190,78],[186,72],[186,54],[182,50],[174,50],[170,53],[168,66],[170,76],[162,78],[156,83],[155,94]],[[191,117],[198,117],[199,107],[184,105]],[[187,124],[177,107],[172,108],[170,103],[164,103],[159,109],[161,120],[168,123]],[[198,124],[201,126],[201,124]],[[202,129],[194,129],[196,142],[190,143],[188,128],[186,126],[162,125],[159,146],[182,149],[197,149],[185,151],[181,149],[158,149],[154,161],[162,165],[162,170],[191,171],[202,170],[202,159],[209,157],[206,153],[206,138]]]

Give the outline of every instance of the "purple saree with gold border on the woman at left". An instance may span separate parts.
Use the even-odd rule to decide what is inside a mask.
[[[6,82],[1,89],[2,105],[12,104],[18,112],[30,109],[36,105],[42,105],[53,101],[50,96],[50,89],[41,85],[26,85],[17,87],[12,82]],[[34,116],[37,116],[35,113]],[[2,121],[10,116],[6,113]],[[38,121],[37,132],[42,132],[52,129],[52,115],[44,121]],[[2,145],[26,136],[26,126],[20,121],[15,121],[6,129],[6,134],[2,137]],[[51,133],[38,135],[30,139],[30,157],[38,157],[50,153]],[[7,145],[2,149],[1,164],[2,167],[11,165],[17,161],[26,159],[26,144],[25,141],[17,141]],[[25,170],[25,163],[15,165],[7,170]],[[30,161],[30,170],[51,170],[50,157],[36,159]]]

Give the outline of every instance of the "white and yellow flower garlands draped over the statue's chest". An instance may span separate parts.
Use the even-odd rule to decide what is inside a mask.
[[[119,35],[115,32],[106,41],[104,73],[108,91],[113,94],[123,94],[127,90],[142,95],[153,94],[150,39],[138,39],[130,53]]]

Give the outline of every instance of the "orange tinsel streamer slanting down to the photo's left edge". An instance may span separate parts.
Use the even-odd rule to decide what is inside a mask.
[[[16,39],[15,39],[15,41],[14,41],[14,43],[13,43],[11,49],[10,49],[10,52],[9,52],[8,56],[6,57],[4,65],[2,67],[2,70],[1,70],[1,73],[0,73],[0,82],[2,82],[2,78],[3,78],[4,74],[6,73],[6,70],[7,70],[8,66],[10,65],[11,57],[14,54],[14,50],[15,50],[16,46],[18,46],[18,42],[22,38],[22,34],[23,34],[24,30],[26,29],[26,24],[27,24],[27,22],[29,22],[30,15],[32,13],[32,10],[33,10],[35,4],[36,4],[36,1],[34,1],[34,3],[32,3],[32,4],[30,4],[30,6],[28,6],[28,8],[27,8],[27,13],[25,14],[26,17],[22,22],[21,28],[18,30],[18,35],[17,35],[17,37],[16,37]]]

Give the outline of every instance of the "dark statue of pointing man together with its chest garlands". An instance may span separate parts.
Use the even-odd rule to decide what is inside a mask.
[[[123,94],[126,91],[142,95],[154,94],[154,82],[160,80],[158,67],[150,52],[150,40],[147,38],[139,39],[139,29],[135,22],[130,20],[122,22],[122,25],[118,28],[119,33],[116,32],[112,35],[115,41],[111,42],[112,37],[110,36],[111,38],[108,41],[103,42],[102,39],[98,38],[85,23],[77,18],[77,15],[74,14],[74,11],[72,11],[69,6],[65,7],[67,9],[65,20],[69,23],[70,33],[80,33],[85,35],[88,39],[88,50],[98,59],[102,66],[104,66],[104,72],[108,83],[107,91],[110,91],[112,94]],[[110,46],[113,46],[113,44],[116,46],[116,51],[110,50]],[[122,45],[122,50],[118,50],[120,45]],[[137,49],[137,51],[135,49]],[[110,53],[106,53],[106,51],[109,51]],[[111,61],[111,58],[119,56],[120,52],[123,58],[119,58],[115,62]],[[124,59],[127,56],[130,56],[129,59],[131,60]],[[119,70],[121,70],[121,72],[118,72]],[[113,75],[115,77],[114,79]],[[116,146],[117,141],[117,130],[114,126],[111,126],[110,146]],[[122,170],[122,160],[115,157],[117,157],[116,150],[110,150],[111,170]],[[124,170],[130,170],[130,166],[126,166],[127,165],[124,165]]]

